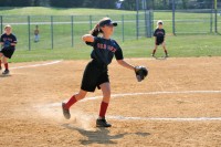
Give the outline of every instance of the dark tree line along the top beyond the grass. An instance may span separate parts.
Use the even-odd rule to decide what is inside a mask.
[[[136,10],[137,0],[0,0],[0,7],[55,7]],[[173,0],[138,0],[143,9],[171,9]],[[175,0],[177,9],[211,9],[214,0]],[[221,4],[221,0],[218,0]],[[145,8],[144,8],[145,7]],[[221,7],[221,6],[220,6]]]

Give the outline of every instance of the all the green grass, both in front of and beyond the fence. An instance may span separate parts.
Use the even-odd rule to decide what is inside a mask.
[[[136,12],[135,11],[120,11],[120,10],[103,10],[103,9],[55,9],[55,8],[0,8],[3,15],[3,22],[14,23],[13,32],[17,34],[19,44],[11,62],[30,62],[30,61],[45,61],[45,60],[78,60],[90,59],[92,49],[81,41],[81,36],[87,33],[94,23],[103,18],[109,15],[113,20],[118,21],[118,27],[115,30],[114,39],[118,41],[124,51],[125,57],[149,57],[154,48],[154,38],[139,38],[136,40]],[[124,38],[123,42],[123,23],[122,17],[124,14]],[[71,42],[71,24],[54,24],[54,49],[51,46],[51,25],[40,25],[41,41],[33,43],[33,34],[31,33],[31,51],[28,51],[28,24],[27,15],[31,15],[30,30],[33,31],[35,23],[50,22],[51,15],[54,22],[71,22],[71,15],[74,15],[74,22],[88,21],[92,17],[92,24],[88,23],[74,23],[74,48]],[[154,19],[164,20],[165,29],[167,31],[167,48],[170,56],[219,56],[220,51],[220,35],[210,33],[210,17],[209,13],[176,13],[176,30],[177,32],[203,32],[204,34],[198,35],[171,35],[172,32],[172,13],[171,12],[155,12]],[[221,17],[218,17],[220,21]],[[133,22],[129,22],[134,20]],[[187,22],[183,22],[188,20]],[[203,22],[197,22],[204,20]],[[15,24],[15,22],[24,24]],[[221,32],[221,27],[218,25],[218,31]],[[213,25],[212,25],[213,27]],[[212,28],[213,30],[213,28]],[[143,32],[140,32],[143,33]],[[157,55],[164,55],[161,46],[157,51]]]

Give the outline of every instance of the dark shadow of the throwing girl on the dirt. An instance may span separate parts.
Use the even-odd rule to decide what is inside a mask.
[[[120,139],[125,135],[138,135],[138,136],[148,136],[149,133],[123,133],[117,135],[109,135],[109,129],[107,128],[97,128],[96,130],[85,130],[75,126],[72,126],[70,124],[63,124],[63,127],[72,130],[77,130],[83,136],[87,137],[87,139],[80,140],[82,145],[90,145],[90,144],[117,144],[113,139]]]

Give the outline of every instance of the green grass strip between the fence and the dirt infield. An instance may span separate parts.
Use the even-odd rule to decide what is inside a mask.
[[[140,39],[119,42],[125,57],[149,57],[154,48],[154,39]],[[185,56],[220,56],[220,35],[178,35],[167,36],[167,48],[171,57]],[[75,48],[53,50],[18,50],[12,62],[30,62],[45,60],[81,60],[90,59],[92,48],[81,43]],[[162,56],[161,46],[157,56]]]

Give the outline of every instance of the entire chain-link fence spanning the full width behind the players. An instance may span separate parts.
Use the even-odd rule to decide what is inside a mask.
[[[162,20],[167,34],[201,34],[221,32],[221,10],[217,19],[213,10],[139,11],[131,14],[109,15],[0,15],[1,33],[11,24],[18,38],[18,50],[65,49],[83,44],[81,38],[103,17],[118,22],[114,39],[137,40],[152,36],[157,20]],[[34,30],[39,27],[40,41],[34,42]]]

